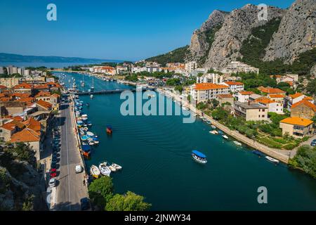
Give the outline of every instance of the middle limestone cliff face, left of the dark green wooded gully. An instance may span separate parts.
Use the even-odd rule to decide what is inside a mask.
[[[251,34],[251,29],[265,25],[274,18],[282,18],[285,11],[268,6],[268,20],[258,20],[258,13],[260,11],[257,6],[247,4],[225,17],[223,26],[215,34],[206,59],[206,67],[220,70],[225,68],[230,61],[242,57],[239,50],[242,47],[242,41]]]

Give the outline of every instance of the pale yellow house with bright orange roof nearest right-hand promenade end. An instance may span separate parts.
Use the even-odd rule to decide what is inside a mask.
[[[282,134],[289,134],[294,137],[303,137],[312,134],[312,120],[301,117],[287,117],[279,122]]]

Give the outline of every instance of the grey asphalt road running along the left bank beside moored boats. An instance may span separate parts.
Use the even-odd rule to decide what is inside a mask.
[[[87,197],[84,186],[84,173],[76,174],[75,166],[81,165],[81,155],[77,149],[74,127],[70,116],[71,106],[61,105],[60,124],[61,148],[59,161],[58,186],[56,188],[55,210],[80,210],[80,199]]]

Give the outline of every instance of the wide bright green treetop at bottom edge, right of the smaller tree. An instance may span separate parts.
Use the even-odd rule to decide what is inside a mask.
[[[151,207],[150,203],[145,203],[144,197],[128,191],[125,195],[116,194],[105,206],[107,211],[146,211]]]

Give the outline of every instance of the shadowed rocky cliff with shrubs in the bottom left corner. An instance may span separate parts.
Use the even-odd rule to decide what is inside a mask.
[[[46,210],[34,152],[24,143],[1,146],[1,210]]]

